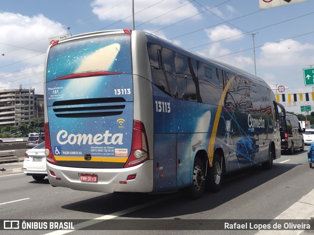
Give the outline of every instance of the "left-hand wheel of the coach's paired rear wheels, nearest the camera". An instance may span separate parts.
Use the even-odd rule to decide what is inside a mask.
[[[205,167],[199,157],[195,157],[193,165],[193,183],[188,187],[188,195],[191,199],[202,197],[205,189]]]

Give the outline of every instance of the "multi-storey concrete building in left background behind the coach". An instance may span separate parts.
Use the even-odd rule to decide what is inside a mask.
[[[18,126],[44,116],[44,95],[35,89],[0,90],[0,126]]]

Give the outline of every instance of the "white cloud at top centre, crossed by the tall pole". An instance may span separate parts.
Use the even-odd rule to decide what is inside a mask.
[[[100,20],[131,21],[131,1],[94,0],[91,6],[93,7],[93,13],[97,14]],[[134,19],[135,22],[140,23],[150,21],[150,23],[156,25],[171,24],[197,13],[199,13],[198,9],[187,0],[134,1]],[[198,20],[201,19],[201,16],[197,15],[191,19]]]

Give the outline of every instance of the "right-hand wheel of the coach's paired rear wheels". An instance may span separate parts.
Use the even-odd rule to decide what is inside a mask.
[[[224,168],[222,157],[214,154],[212,159],[212,167],[209,168],[209,175],[206,181],[206,190],[210,192],[218,192],[222,187]]]

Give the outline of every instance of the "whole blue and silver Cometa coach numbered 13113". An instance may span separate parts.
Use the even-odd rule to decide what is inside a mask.
[[[98,192],[218,191],[225,174],[280,157],[279,113],[258,77],[155,35],[108,30],[48,49],[47,171]]]

